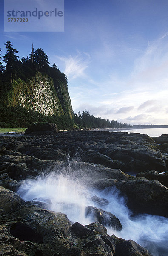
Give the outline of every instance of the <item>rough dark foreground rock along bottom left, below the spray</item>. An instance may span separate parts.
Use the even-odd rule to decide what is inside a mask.
[[[3,191],[17,204],[7,207],[5,215],[0,214],[1,255],[110,256],[119,252],[120,256],[151,256],[133,241],[108,236],[99,223],[92,223],[89,228],[79,223],[71,227],[65,214],[29,202],[19,204],[16,194]]]

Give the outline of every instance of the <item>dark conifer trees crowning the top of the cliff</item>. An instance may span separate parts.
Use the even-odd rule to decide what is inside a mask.
[[[11,44],[11,41],[6,41],[4,44],[6,48],[6,54],[0,56],[0,76],[8,76],[10,82],[12,83],[14,79],[20,78],[27,80],[31,78],[37,71],[41,73],[46,73],[48,76],[60,79],[64,83],[67,83],[66,75],[61,72],[57,65],[54,63],[52,67],[49,66],[48,56],[43,51],[43,49],[38,48],[34,49],[32,44],[31,53],[27,57],[22,57],[18,59],[17,49],[14,49]],[[1,52],[1,48],[0,48]],[[6,66],[3,66],[2,61],[6,63]]]

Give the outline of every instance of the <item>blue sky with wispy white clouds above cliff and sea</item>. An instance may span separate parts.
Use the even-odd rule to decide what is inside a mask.
[[[1,56],[9,40],[20,58],[42,48],[66,74],[75,113],[168,125],[168,1],[65,0],[64,11],[64,32],[4,32],[0,0]]]

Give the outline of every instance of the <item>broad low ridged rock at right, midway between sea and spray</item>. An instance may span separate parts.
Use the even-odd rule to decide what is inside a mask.
[[[130,144],[97,144],[92,147],[91,155],[86,151],[82,159],[91,163],[103,163],[110,168],[119,168],[124,172],[142,172],[142,170],[166,171],[167,157],[159,151],[138,143]],[[103,156],[103,157],[102,157]],[[108,158],[107,158],[108,157]],[[100,160],[99,160],[100,158]]]

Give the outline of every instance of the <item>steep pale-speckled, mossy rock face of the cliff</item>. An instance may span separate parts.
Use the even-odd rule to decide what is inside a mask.
[[[72,118],[71,100],[67,84],[59,79],[37,72],[27,82],[17,79],[12,84],[6,103],[10,107],[21,106],[45,116],[68,115]]]

